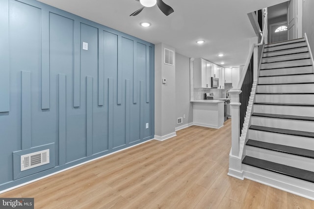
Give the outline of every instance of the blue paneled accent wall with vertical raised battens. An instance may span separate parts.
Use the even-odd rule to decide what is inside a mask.
[[[0,8],[0,190],[154,138],[153,44],[36,0]],[[41,147],[52,163],[14,176]]]

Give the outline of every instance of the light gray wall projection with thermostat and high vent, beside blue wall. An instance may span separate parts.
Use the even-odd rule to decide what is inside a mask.
[[[162,43],[155,45],[155,139],[159,140],[176,135],[176,58],[174,66],[164,64],[164,48],[175,51]]]

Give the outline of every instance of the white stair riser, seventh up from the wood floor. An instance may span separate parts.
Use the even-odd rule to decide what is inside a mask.
[[[314,93],[314,84],[258,85],[257,93]]]

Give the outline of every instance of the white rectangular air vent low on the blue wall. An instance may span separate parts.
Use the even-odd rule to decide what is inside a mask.
[[[49,163],[49,149],[21,155],[21,171]]]

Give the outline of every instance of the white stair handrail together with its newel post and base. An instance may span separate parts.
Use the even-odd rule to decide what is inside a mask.
[[[240,80],[238,85],[229,91],[231,95],[231,117],[232,117],[232,147],[229,156],[228,175],[242,179],[241,160],[244,142],[240,140],[244,119],[252,91],[254,80],[258,78],[258,67],[261,63],[261,52],[265,42],[267,42],[267,13],[264,12],[263,30],[260,29],[261,42],[252,44],[243,72],[240,71]],[[247,127],[245,127],[247,128]],[[247,132],[245,132],[246,134]],[[246,137],[245,137],[246,138]],[[244,138],[244,139],[245,139]]]

